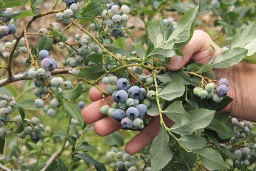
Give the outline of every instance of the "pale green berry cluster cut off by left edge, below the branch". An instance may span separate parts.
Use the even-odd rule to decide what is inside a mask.
[[[10,120],[9,115],[15,110],[16,103],[14,97],[0,93],[0,126],[2,121],[7,122]]]

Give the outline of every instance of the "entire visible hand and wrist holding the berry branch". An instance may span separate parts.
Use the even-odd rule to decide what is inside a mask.
[[[181,48],[183,57],[173,56],[169,64],[166,67],[169,70],[180,70],[190,59],[194,59],[196,62],[207,64],[212,58],[212,49],[209,45],[212,45],[216,49],[215,56],[222,52],[222,49],[218,47],[209,35],[201,30],[195,30],[192,39],[189,43]],[[216,79],[227,78],[229,81],[228,96],[234,100],[221,112],[230,112],[231,116],[244,120],[250,120],[256,122],[254,112],[256,111],[255,97],[256,89],[253,89],[256,83],[256,67],[252,64],[237,64],[227,69],[215,69]],[[107,85],[102,82],[99,83],[102,89],[106,89]],[[106,97],[102,99],[102,93],[96,88],[92,87],[89,91],[89,98],[93,103],[84,108],[81,115],[87,124],[95,122],[94,130],[99,136],[107,136],[122,128],[122,125],[116,122],[111,117],[105,117],[99,113],[102,102],[110,105],[108,100],[113,102],[112,97]],[[171,127],[174,122],[163,115],[165,123],[168,127]],[[143,150],[160,129],[159,116],[151,117],[151,122],[143,128],[140,133],[134,136],[130,142],[125,146],[125,151],[128,154],[136,154]]]

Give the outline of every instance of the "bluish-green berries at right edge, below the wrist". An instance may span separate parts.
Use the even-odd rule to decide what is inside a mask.
[[[239,121],[236,118],[232,118],[231,121],[236,136],[230,139],[231,145],[226,145],[226,148],[237,156],[232,158],[236,168],[240,168],[241,165],[248,166],[256,160],[256,139],[254,143],[247,143],[244,146],[244,142],[250,137],[253,124],[249,121]]]

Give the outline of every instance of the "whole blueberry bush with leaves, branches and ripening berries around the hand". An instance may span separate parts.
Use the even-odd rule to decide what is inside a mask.
[[[256,64],[254,1],[55,0],[49,11],[41,12],[44,3],[0,1],[0,39],[5,42],[0,53],[0,169],[256,169],[254,123],[220,113],[233,99],[227,96],[229,80],[217,80],[213,72],[241,62]],[[176,12],[177,20],[165,12]],[[213,55],[208,64],[191,60],[178,71],[168,70],[172,56],[183,56],[181,48],[195,27],[204,26],[204,14],[215,17],[213,27],[221,28],[214,40],[226,35],[230,45],[217,56],[209,45]],[[49,16],[54,22],[29,31],[36,20]],[[145,25],[137,38],[137,22],[129,25],[130,18]],[[20,28],[22,20],[26,24]],[[67,33],[72,29],[75,34]],[[24,81],[18,90],[17,83]],[[87,103],[81,99],[92,87],[102,94],[99,113],[123,129],[103,142],[101,148],[112,146],[99,150],[103,161],[90,143],[93,125],[81,116]],[[47,118],[44,123],[40,111]],[[68,121],[62,122],[64,118]],[[127,154],[123,136],[154,118],[160,118],[160,130],[153,142],[138,154]],[[175,122],[171,127],[168,119]],[[52,151],[58,143],[61,147]]]

